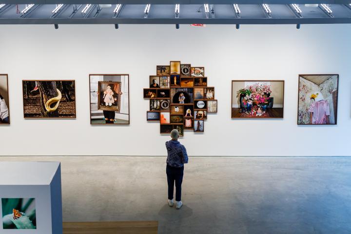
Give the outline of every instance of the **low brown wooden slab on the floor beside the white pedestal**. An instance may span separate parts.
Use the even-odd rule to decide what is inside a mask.
[[[63,234],[157,234],[157,221],[63,222]]]

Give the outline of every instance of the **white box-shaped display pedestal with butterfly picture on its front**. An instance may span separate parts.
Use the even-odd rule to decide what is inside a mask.
[[[36,229],[3,229],[1,198],[35,198],[31,205],[35,204]],[[0,162],[0,204],[1,234],[62,234],[60,163]]]

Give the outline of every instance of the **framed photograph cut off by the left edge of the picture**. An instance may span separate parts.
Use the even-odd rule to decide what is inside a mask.
[[[0,124],[10,124],[7,74],[0,74]]]

